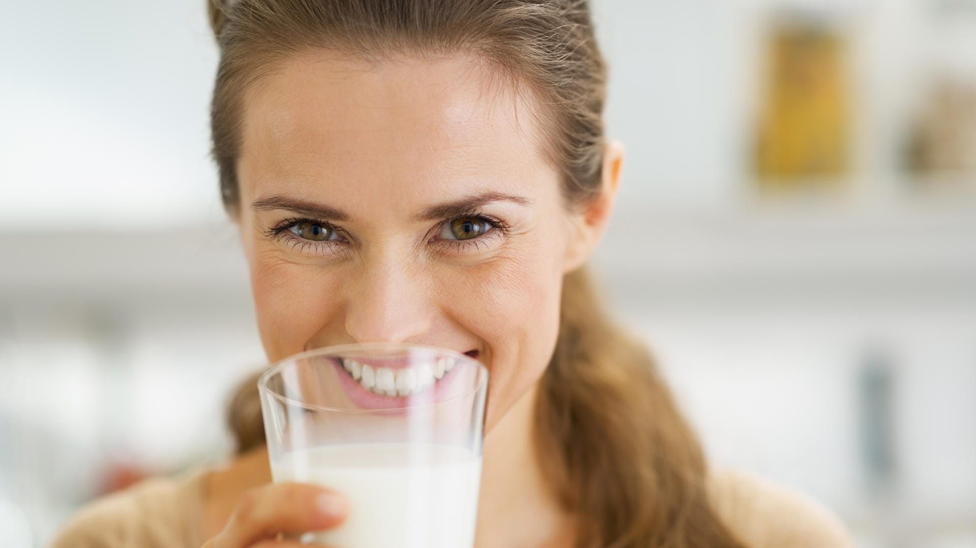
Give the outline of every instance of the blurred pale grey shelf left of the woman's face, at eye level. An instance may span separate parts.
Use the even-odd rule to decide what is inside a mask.
[[[0,298],[145,303],[249,298],[229,223],[161,230],[2,231]]]

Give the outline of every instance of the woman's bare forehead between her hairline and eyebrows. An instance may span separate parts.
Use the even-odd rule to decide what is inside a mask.
[[[523,189],[551,169],[534,101],[503,82],[466,57],[288,59],[245,101],[244,195],[356,183],[363,198],[428,201],[459,185]]]

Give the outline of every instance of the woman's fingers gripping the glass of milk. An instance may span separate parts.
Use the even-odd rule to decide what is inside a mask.
[[[307,548],[278,533],[335,528],[346,519],[346,498],[305,484],[269,484],[244,493],[224,530],[203,548]]]

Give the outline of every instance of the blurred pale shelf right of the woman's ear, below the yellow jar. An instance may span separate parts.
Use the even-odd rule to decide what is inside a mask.
[[[595,259],[634,305],[696,300],[976,303],[976,202],[808,197],[735,210],[622,205]]]

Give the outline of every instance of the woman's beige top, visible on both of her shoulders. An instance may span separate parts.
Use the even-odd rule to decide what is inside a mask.
[[[146,480],[106,496],[72,518],[51,548],[200,548],[206,471]],[[751,548],[849,548],[833,514],[792,490],[743,472],[712,476],[722,521]]]

